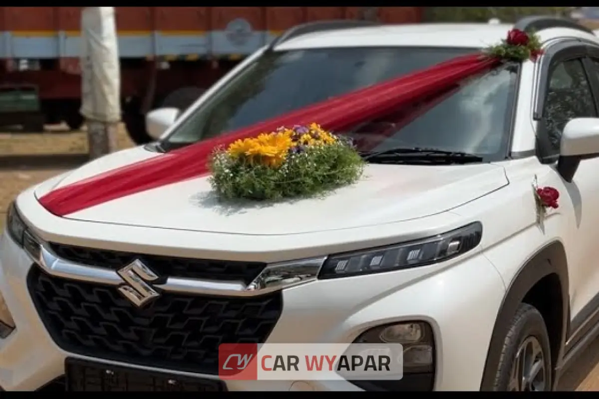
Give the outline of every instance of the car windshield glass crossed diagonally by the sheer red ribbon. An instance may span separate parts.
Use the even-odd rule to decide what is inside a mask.
[[[161,142],[178,148],[428,68],[477,50],[319,48],[266,53],[199,106]],[[503,66],[446,93],[349,132],[360,151],[426,147],[501,159],[509,139],[516,69]],[[317,121],[316,121],[317,122]]]

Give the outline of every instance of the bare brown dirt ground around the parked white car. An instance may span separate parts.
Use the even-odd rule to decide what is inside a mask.
[[[0,133],[0,230],[13,198],[31,185],[85,162],[84,132],[49,128],[43,134]],[[124,129],[119,130],[119,147],[128,148]],[[599,339],[585,351],[562,377],[560,391],[599,391]]]

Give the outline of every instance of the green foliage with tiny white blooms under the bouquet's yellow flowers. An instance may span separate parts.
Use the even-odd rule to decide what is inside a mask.
[[[279,200],[315,196],[352,184],[364,170],[362,157],[342,140],[308,146],[278,167],[250,165],[222,149],[210,160],[210,184],[222,199]]]

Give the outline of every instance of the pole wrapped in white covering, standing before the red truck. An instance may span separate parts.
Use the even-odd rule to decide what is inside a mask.
[[[114,7],[81,11],[81,115],[86,119],[90,159],[116,151],[120,66]]]

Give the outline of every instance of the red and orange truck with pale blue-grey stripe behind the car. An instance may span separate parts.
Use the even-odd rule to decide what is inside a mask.
[[[0,124],[43,130],[79,114],[81,7],[0,7]],[[122,119],[149,142],[144,115],[186,109],[241,59],[292,26],[356,19],[359,7],[115,7]],[[422,7],[379,7],[382,23],[417,23]]]

